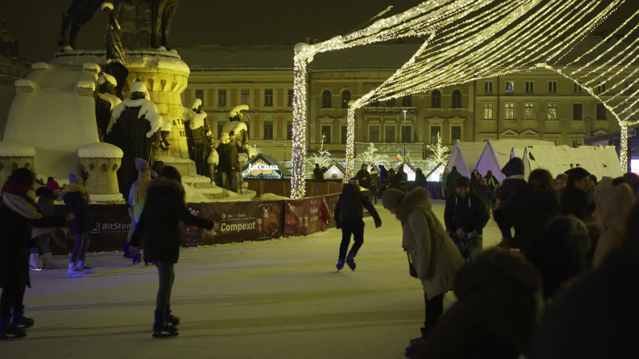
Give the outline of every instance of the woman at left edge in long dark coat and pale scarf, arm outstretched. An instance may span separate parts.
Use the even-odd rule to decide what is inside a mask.
[[[44,217],[29,196],[35,176],[28,169],[13,171],[4,183],[0,201],[0,339],[24,337],[33,326],[24,316],[24,291],[29,282],[29,241],[65,224],[62,217]],[[13,318],[11,312],[13,310]]]

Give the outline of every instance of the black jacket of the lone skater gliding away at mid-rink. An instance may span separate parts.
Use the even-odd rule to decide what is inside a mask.
[[[335,225],[339,228],[343,222],[361,222],[364,217],[364,208],[371,213],[375,223],[381,223],[380,215],[369,198],[362,194],[357,185],[346,183],[335,204]]]

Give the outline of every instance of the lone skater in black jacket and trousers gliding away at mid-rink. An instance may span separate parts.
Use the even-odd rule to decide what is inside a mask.
[[[351,178],[349,183],[344,185],[344,189],[337,204],[335,204],[335,225],[337,228],[342,229],[342,243],[339,246],[339,259],[337,260],[337,271],[344,268],[344,261],[351,268],[355,270],[355,256],[357,251],[362,247],[364,243],[364,207],[371,213],[375,220],[375,228],[381,227],[381,218],[377,213],[373,204],[368,197],[362,194],[360,191],[357,179]],[[351,247],[348,256],[346,251],[351,241],[351,234],[353,235],[353,247]]]

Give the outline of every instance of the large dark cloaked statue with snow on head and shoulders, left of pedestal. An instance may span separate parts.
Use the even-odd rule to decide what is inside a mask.
[[[120,192],[127,196],[133,183],[135,158],[151,162],[151,151],[160,142],[160,129],[167,130],[167,121],[158,114],[155,104],[148,100],[142,82],[131,85],[131,98],[125,98],[112,112],[105,142],[122,149],[122,167],[118,171]]]

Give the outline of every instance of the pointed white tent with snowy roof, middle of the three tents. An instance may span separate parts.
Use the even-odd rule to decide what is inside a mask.
[[[486,172],[488,171],[493,171],[493,175],[498,181],[504,181],[505,176],[504,173],[502,173],[502,168],[504,168],[511,158],[521,158],[526,146],[551,147],[555,146],[555,143],[541,140],[488,140],[475,168],[477,168],[477,171],[479,171],[482,176],[486,176]]]

